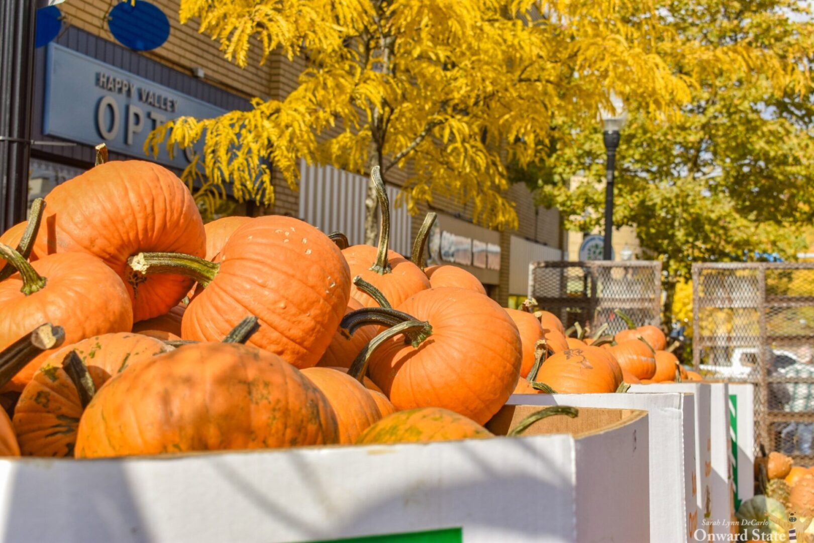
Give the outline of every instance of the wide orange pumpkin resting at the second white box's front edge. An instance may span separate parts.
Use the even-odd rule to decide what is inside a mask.
[[[569,349],[549,357],[536,380],[561,394],[616,392],[619,386],[606,360],[586,349]]]

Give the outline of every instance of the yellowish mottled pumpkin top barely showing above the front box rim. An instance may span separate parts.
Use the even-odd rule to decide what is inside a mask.
[[[448,409],[424,407],[389,415],[359,436],[357,444],[423,443],[493,437],[492,432]]]

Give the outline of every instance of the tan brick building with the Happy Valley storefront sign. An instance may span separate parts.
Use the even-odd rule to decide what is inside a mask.
[[[33,138],[59,145],[33,148],[30,199],[89,168],[98,142],[107,143],[112,160],[143,158],[144,139],[161,120],[247,109],[255,96],[282,99],[295,87],[303,59],[291,62],[270,55],[260,65],[255,50],[247,68],[237,68],[223,58],[217,42],[198,33],[194,21],[180,24],[178,0],[151,2],[167,16],[170,34],[164,45],[147,52],[116,42],[105,22],[107,0],[67,0],[59,5],[63,31],[37,49],[33,115]],[[155,160],[178,173],[188,164],[184,153],[171,158],[162,152]],[[300,217],[326,231],[342,230],[351,243],[361,243],[365,177],[304,162],[300,171],[299,192],[276,175],[272,208],[248,204],[239,206],[238,212]],[[404,178],[405,173],[398,171],[388,177],[393,200]],[[517,231],[477,226],[469,205],[449,199],[435,198],[432,207],[439,216],[432,257],[442,260],[438,247],[444,243],[470,243],[468,257],[463,251],[453,259],[447,251],[443,260],[457,260],[504,305],[515,304],[526,294],[528,263],[562,259],[566,243],[556,210],[535,207],[523,185],[511,187],[509,197],[519,214]],[[393,208],[394,250],[409,254],[424,211],[410,217],[405,208]]]

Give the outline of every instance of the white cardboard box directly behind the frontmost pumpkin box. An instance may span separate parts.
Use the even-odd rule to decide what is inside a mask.
[[[698,507],[692,496],[695,471],[695,412],[689,394],[523,394],[511,396],[510,405],[573,405],[606,409],[644,409],[650,423],[650,540],[694,541],[699,528]],[[604,466],[613,466],[605,462]],[[689,484],[688,484],[689,482]],[[624,499],[611,493],[606,499]],[[627,519],[636,516],[629,508]],[[616,541],[608,538],[606,541]],[[624,538],[619,541],[648,541]]]

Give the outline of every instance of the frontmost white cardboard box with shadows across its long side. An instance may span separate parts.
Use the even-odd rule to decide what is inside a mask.
[[[511,427],[530,410],[507,408],[496,424]],[[648,427],[642,411],[582,409],[575,419],[540,421],[522,437],[5,459],[0,537],[294,543],[405,533],[398,541],[646,541]],[[430,531],[438,532],[422,533]]]

